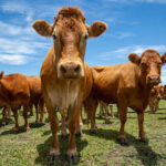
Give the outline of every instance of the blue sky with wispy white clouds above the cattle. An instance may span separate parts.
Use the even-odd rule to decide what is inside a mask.
[[[89,24],[101,20],[108,25],[102,37],[87,41],[91,66],[125,63],[129,53],[146,49],[166,52],[166,0],[1,0],[0,71],[40,74],[53,40],[37,34],[31,24],[37,19],[53,23],[64,6],[81,8]],[[166,66],[162,81],[166,83]]]

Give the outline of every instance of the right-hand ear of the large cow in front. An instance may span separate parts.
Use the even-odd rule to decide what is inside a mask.
[[[106,23],[101,21],[95,21],[91,25],[87,25],[89,37],[100,37],[107,29]]]

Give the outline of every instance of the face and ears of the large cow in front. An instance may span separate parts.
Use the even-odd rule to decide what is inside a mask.
[[[53,38],[58,77],[84,76],[86,40],[101,35],[106,30],[106,24],[100,21],[92,25],[85,24],[82,11],[72,7],[62,8],[54,20],[53,24],[38,20],[32,27],[39,34]]]

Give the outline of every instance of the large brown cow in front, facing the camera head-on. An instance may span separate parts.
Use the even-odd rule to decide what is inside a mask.
[[[62,117],[69,114],[68,158],[76,163],[76,125],[82,101],[92,86],[92,73],[84,63],[86,39],[101,35],[106,30],[106,24],[96,21],[87,25],[80,9],[64,7],[59,11],[53,24],[39,20],[32,25],[39,34],[54,39],[54,44],[41,68],[42,91],[52,131],[49,160],[56,162],[60,155],[59,121],[55,112],[55,107],[59,107]]]

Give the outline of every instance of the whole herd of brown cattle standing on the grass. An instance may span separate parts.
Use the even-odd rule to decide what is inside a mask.
[[[52,37],[54,44],[43,61],[40,76],[3,75],[1,72],[2,123],[10,116],[11,108],[15,120],[14,131],[18,131],[18,110],[23,106],[24,127],[29,129],[28,111],[31,110],[33,114],[34,105],[37,123],[43,123],[46,107],[52,132],[49,160],[56,163],[60,159],[59,108],[62,136],[66,135],[66,122],[70,132],[68,159],[75,164],[79,160],[75,134],[81,135],[82,105],[91,121],[91,131],[96,132],[95,113],[98,102],[105,108],[111,104],[112,116],[112,104],[116,104],[121,120],[120,143],[127,143],[124,131],[127,107],[137,113],[138,135],[141,141],[148,143],[144,132],[144,112],[148,103],[152,112],[155,112],[158,101],[166,97],[166,87],[157,86],[160,83],[160,68],[166,63],[166,53],[160,55],[155,50],[146,50],[141,56],[131,53],[128,63],[89,68],[84,62],[86,40],[105,32],[107,25],[104,22],[95,21],[87,25],[80,9],[64,7],[54,17],[53,24],[37,20],[32,27],[39,34]]]

